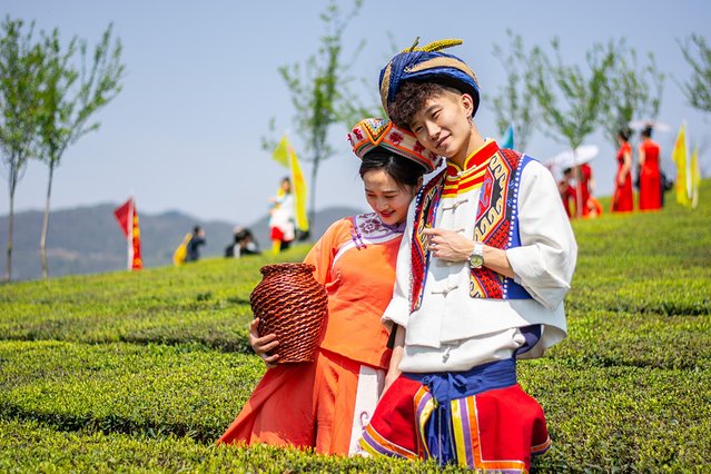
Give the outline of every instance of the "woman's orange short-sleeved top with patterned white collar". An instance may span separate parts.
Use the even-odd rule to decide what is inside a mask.
[[[377,215],[362,214],[334,223],[305,263],[328,292],[328,317],[320,347],[353,361],[387,368],[388,330],[381,316],[393,297],[395,263],[403,237]]]

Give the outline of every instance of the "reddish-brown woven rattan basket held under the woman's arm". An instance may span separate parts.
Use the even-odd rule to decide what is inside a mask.
[[[314,279],[309,264],[261,267],[261,282],[249,295],[260,336],[276,334],[277,364],[312,362],[328,312],[326,288]]]

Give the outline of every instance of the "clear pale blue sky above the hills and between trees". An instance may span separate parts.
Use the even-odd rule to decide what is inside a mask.
[[[342,1],[346,10],[349,2]],[[34,20],[38,29],[58,27],[62,38],[85,38],[95,45],[109,22],[124,45],[127,75],[122,92],[97,118],[98,132],[85,136],[65,155],[56,172],[52,208],[119,203],[134,195],[139,213],[177,209],[201,219],[250,224],[264,216],[268,197],[285,175],[261,150],[274,117],[277,134],[290,132],[294,109],[277,72],[283,65],[303,62],[319,45],[325,0],[259,2],[2,0],[4,17]],[[365,0],[345,33],[345,57],[361,39],[366,47],[352,73],[369,89],[364,101],[377,100],[377,75],[389,55],[391,37],[398,48],[415,37],[422,42],[461,38],[451,52],[477,73],[482,91],[494,95],[505,72],[492,55],[494,43],[506,46],[506,30],[522,36],[530,48],[560,38],[566,62],[583,65],[594,42],[626,38],[643,56],[654,52],[670,75],[660,120],[672,132],[659,134],[665,162],[682,120],[700,144],[708,172],[711,117],[687,105],[679,82],[690,75],[678,40],[704,33],[711,23],[711,2],[704,0],[574,1],[441,1]],[[707,40],[711,38],[705,34]],[[483,106],[477,122],[496,137],[494,117]],[[335,126],[330,140],[337,155],[319,170],[316,208],[347,205],[366,209],[357,176],[357,159],[346,142],[346,128]],[[275,137],[278,138],[278,137]],[[601,154],[592,161],[596,195],[610,195],[615,149],[600,134],[587,144]],[[545,161],[565,149],[537,131],[525,151]],[[310,176],[310,165],[303,162]],[[0,171],[0,214],[8,213],[7,171]],[[40,209],[47,169],[30,164],[16,195],[16,210]]]

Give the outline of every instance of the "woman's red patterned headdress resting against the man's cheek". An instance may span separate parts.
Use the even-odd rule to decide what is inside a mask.
[[[353,152],[361,159],[368,151],[381,147],[422,165],[427,172],[440,165],[437,155],[425,149],[409,130],[397,127],[388,119],[367,118],[361,120],[348,134],[348,141],[350,141]]]

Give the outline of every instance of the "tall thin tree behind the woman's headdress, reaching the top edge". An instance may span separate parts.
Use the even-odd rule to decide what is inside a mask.
[[[329,129],[336,124],[348,128],[363,117],[373,115],[369,108],[357,103],[355,95],[349,90],[355,80],[349,72],[350,65],[355,62],[364,42],[359,43],[350,59],[343,58],[343,34],[350,20],[358,14],[362,3],[363,0],[355,0],[353,9],[343,14],[336,0],[332,0],[320,14],[326,32],[320,37],[318,52],[308,57],[303,65],[297,62],[279,68],[296,110],[294,121],[297,135],[306,147],[304,160],[312,162],[308,210],[312,228],[318,168],[323,160],[334,155],[334,148],[328,142]],[[275,128],[274,120],[270,128]],[[263,139],[265,149],[274,149],[275,145],[274,139]]]

